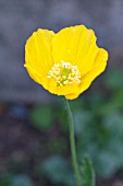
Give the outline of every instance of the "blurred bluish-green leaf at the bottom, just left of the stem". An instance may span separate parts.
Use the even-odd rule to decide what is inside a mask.
[[[50,156],[41,163],[41,172],[52,184],[74,186],[73,172],[67,161],[60,155]]]

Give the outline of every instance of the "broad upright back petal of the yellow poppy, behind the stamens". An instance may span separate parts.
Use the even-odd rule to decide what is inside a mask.
[[[91,70],[98,51],[93,30],[84,25],[66,27],[57,33],[51,43],[56,63],[63,60],[76,65],[82,75]]]

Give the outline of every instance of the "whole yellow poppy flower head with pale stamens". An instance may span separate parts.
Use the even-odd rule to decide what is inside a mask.
[[[84,25],[58,33],[39,28],[25,45],[25,67],[37,83],[52,94],[76,98],[106,68],[108,53]]]

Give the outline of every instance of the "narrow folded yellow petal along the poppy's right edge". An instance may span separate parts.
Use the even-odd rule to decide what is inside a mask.
[[[78,97],[78,95],[79,95],[81,93],[83,93],[84,91],[86,91],[86,90],[90,86],[91,82],[93,82],[101,72],[104,71],[106,66],[107,66],[107,60],[108,60],[108,53],[107,53],[104,49],[99,48],[91,71],[88,72],[87,74],[85,74],[85,75],[82,78],[82,83],[81,83],[81,88],[79,88],[78,92],[75,92],[74,94],[67,94],[67,95],[65,95],[65,97],[66,97],[67,100],[73,100],[73,98]]]

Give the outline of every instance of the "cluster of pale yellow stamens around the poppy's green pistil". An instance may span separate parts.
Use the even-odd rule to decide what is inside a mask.
[[[77,66],[72,66],[63,60],[61,63],[54,63],[47,77],[53,78],[57,86],[81,83],[81,72]]]

